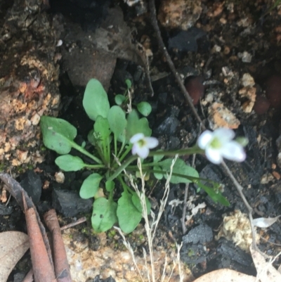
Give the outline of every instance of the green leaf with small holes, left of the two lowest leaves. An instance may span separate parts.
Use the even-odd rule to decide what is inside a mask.
[[[105,232],[117,222],[117,203],[105,198],[98,198],[93,203],[91,223],[96,232]]]

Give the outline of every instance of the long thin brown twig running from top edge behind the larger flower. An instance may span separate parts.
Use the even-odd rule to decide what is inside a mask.
[[[152,26],[153,26],[155,33],[156,33],[159,48],[161,49],[162,53],[164,53],[164,56],[165,56],[166,61],[169,65],[169,68],[171,69],[171,72],[173,73],[174,77],[176,78],[176,82],[178,83],[178,86],[180,87],[183,95],[185,96],[185,100],[188,102],[188,105],[190,106],[193,115],[195,115],[197,121],[200,122],[202,129],[206,130],[204,123],[202,122],[200,116],[197,113],[197,110],[195,109],[195,107],[192,103],[192,98],[188,94],[188,91],[186,91],[185,86],[183,84],[183,81],[182,81],[181,77],[178,75],[178,72],[176,71],[175,65],[174,65],[173,61],[171,60],[171,57],[169,56],[168,51],[166,51],[166,46],[164,45],[164,42],[162,40],[161,32],[159,30],[159,26],[158,26],[158,23],[157,23],[155,0],[149,0],[149,7],[150,7],[150,18],[151,18]],[[261,250],[259,250],[259,248],[256,245],[256,230],[254,229],[253,217],[252,217],[253,209],[251,208],[251,205],[249,205],[247,199],[245,198],[245,196],[242,192],[242,189],[243,189],[242,186],[235,179],[233,173],[230,171],[229,167],[226,165],[225,162],[222,163],[221,167],[223,167],[224,172],[226,172],[226,174],[231,179],[231,181],[233,181],[233,185],[235,186],[238,193],[240,194],[240,197],[242,198],[244,205],[247,207],[248,214],[249,214],[249,222],[251,224],[251,233],[252,233],[254,250],[257,250],[258,252],[261,253],[261,255],[268,258],[269,256],[264,254],[263,252],[261,252]]]

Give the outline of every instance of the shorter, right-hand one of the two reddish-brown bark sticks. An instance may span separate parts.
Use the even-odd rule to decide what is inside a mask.
[[[44,221],[52,234],[53,260],[55,264],[55,276],[58,282],[71,282],[70,266],[67,261],[65,245],[60,233],[60,225],[55,210],[49,210],[44,214]]]

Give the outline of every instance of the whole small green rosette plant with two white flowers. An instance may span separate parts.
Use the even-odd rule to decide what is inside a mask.
[[[199,140],[201,148],[194,146],[185,150],[150,152],[151,148],[158,145],[157,139],[150,137],[152,130],[145,117],[149,115],[151,106],[147,102],[141,102],[136,105],[138,111],[131,109],[131,99],[127,100],[126,97],[127,94],[130,94],[131,82],[126,81],[126,85],[124,98],[120,98],[121,96],[115,98],[117,105],[111,107],[107,94],[98,80],[91,79],[86,85],[83,106],[86,114],[93,120],[93,129],[88,134],[88,142],[92,145],[90,151],[85,149],[85,142],[79,146],[74,141],[77,129],[69,122],[47,116],[41,117],[40,122],[44,145],[60,155],[55,159],[55,164],[60,169],[66,172],[80,169],[93,170],[93,173],[81,185],[79,194],[84,199],[95,198],[91,223],[93,229],[98,232],[107,231],[118,223],[122,231],[130,233],[141,221],[143,207],[140,198],[136,191],[127,185],[126,174],[124,174],[124,169],[138,172],[138,165],[132,164],[138,157],[142,158],[143,173],[152,173],[157,179],[163,177],[167,179],[170,172],[173,159],[164,159],[164,156],[204,153],[206,149],[208,157],[210,155],[208,152],[215,148],[219,150],[221,157],[231,159],[228,146],[230,139],[233,139],[233,134],[228,134],[224,142],[228,143],[226,146],[221,144],[221,140],[224,139],[220,140],[220,134],[226,134],[226,132],[205,134],[204,138]],[[123,105],[127,101],[129,101],[129,110],[125,111]],[[139,113],[145,116],[140,117]],[[238,147],[235,148],[241,153],[242,146]],[[72,149],[88,157],[91,163],[85,162],[77,155],[71,155]],[[222,160],[221,157],[220,160]],[[237,161],[242,161],[242,159]],[[123,189],[117,202],[115,201],[116,181]],[[195,182],[214,201],[229,205],[228,200],[219,191],[219,184],[209,179],[200,179],[198,172],[179,158],[174,163],[170,181],[173,184]],[[212,187],[207,186],[206,182]],[[145,201],[149,214],[150,202],[146,197]]]

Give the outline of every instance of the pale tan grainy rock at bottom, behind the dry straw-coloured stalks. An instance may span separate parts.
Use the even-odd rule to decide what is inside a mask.
[[[97,275],[100,275],[100,278],[103,279],[112,276],[116,282],[141,281],[129,251],[126,249],[121,251],[110,248],[108,242],[107,245],[100,245],[98,250],[91,250],[89,247],[91,244],[89,242],[74,241],[72,237],[73,232],[75,232],[74,229],[63,231],[63,242],[65,244],[73,282],[93,280]],[[166,273],[170,273],[174,266],[173,260],[176,259],[176,253],[174,253],[174,250],[167,251],[162,247],[156,248],[157,250],[154,252],[156,262],[155,278],[156,281],[160,281],[162,275],[160,271],[164,265],[165,257],[167,258]],[[135,259],[141,274],[146,278],[145,260],[143,257],[138,257],[138,255],[135,255]],[[192,274],[183,263],[181,264],[181,270],[183,271],[183,282],[194,280]],[[169,281],[178,282],[177,267]]]

